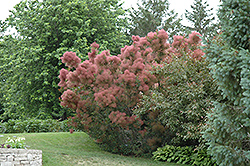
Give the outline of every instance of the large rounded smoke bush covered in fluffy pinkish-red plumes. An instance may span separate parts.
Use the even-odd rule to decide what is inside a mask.
[[[118,56],[109,51],[98,54],[96,43],[89,60],[82,63],[75,53],[66,52],[61,59],[69,69],[62,69],[59,76],[64,91],[61,104],[76,110],[72,125],[84,129],[104,149],[126,155],[150,153],[172,134],[169,126],[156,118],[157,111],[149,116],[133,112],[142,94],[165,81],[152,71],[184,54],[193,61],[203,59],[198,48],[201,39],[195,32],[188,39],[176,36],[172,45],[164,30],[132,39],[133,44],[122,48]]]

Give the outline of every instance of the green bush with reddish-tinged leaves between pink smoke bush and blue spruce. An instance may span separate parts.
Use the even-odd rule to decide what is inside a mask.
[[[152,74],[159,82],[134,110],[143,117],[158,114],[152,118],[168,131],[168,145],[198,145],[206,114],[211,111],[212,100],[219,96],[198,41],[190,46],[184,38],[174,38],[172,45],[179,44],[175,49],[178,56],[154,68]]]

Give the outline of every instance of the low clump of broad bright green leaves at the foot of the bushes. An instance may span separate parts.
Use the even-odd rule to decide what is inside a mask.
[[[153,152],[153,159],[194,166],[216,166],[215,161],[207,154],[206,149],[196,150],[193,147],[165,145]]]

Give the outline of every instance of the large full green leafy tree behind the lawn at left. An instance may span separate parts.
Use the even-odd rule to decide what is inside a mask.
[[[9,118],[62,118],[70,114],[59,105],[60,56],[75,51],[83,59],[89,45],[118,53],[126,43],[125,11],[118,0],[29,0],[14,7],[1,31],[0,85],[4,113]]]

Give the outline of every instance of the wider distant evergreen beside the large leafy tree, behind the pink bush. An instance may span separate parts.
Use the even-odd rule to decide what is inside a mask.
[[[182,30],[181,19],[173,10],[169,11],[168,0],[141,0],[137,2],[138,9],[134,7],[129,11],[130,35],[144,37],[148,32],[164,29],[170,38],[178,35]]]

